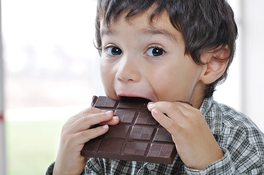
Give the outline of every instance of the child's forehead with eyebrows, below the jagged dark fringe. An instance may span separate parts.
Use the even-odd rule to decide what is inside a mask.
[[[171,40],[172,42],[179,42],[182,40],[181,33],[173,27],[170,23],[169,16],[167,13],[162,13],[151,22],[150,12],[145,11],[135,16],[125,18],[126,13],[122,13],[119,18],[112,21],[109,25],[106,25],[103,20],[101,20],[100,34],[101,38],[104,36],[118,36],[121,32],[120,28],[131,27],[133,28],[133,33],[139,36],[152,37],[154,35],[160,35],[162,37]]]

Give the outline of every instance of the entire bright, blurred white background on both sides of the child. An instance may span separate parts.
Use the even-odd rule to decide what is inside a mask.
[[[237,52],[214,99],[264,131],[264,1],[229,3],[238,24]],[[0,174],[45,174],[63,123],[89,107],[93,95],[104,95],[93,45],[95,13],[96,0],[1,0]]]

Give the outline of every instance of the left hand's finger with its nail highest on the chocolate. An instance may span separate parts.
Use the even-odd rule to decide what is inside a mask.
[[[108,111],[98,114],[82,114],[81,118],[71,124],[72,133],[77,133],[89,129],[92,125],[109,121],[113,118],[114,112]]]

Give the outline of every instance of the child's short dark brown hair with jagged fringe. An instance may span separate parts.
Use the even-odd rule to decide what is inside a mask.
[[[237,26],[232,8],[226,0],[97,0],[97,15],[95,21],[97,49],[101,56],[102,43],[100,21],[109,26],[118,20],[126,11],[125,18],[146,11],[153,6],[149,23],[164,11],[168,13],[171,24],[182,33],[185,40],[185,54],[189,54],[199,65],[201,54],[217,52],[229,47],[226,58],[218,58],[224,62],[229,59],[224,74],[206,87],[206,97],[213,95],[216,85],[223,83],[228,74],[228,68],[233,61],[236,48]]]

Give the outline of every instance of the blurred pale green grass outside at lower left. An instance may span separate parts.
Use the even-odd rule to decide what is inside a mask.
[[[7,175],[45,174],[56,159],[65,121],[6,121]]]

